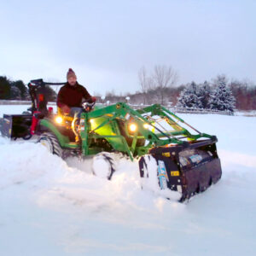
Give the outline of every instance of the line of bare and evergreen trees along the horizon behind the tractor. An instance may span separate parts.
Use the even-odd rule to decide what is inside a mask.
[[[138,90],[135,93],[118,95],[108,91],[98,96],[102,102],[125,102],[149,105],[160,103],[182,108],[210,108],[233,111],[256,109],[256,85],[253,82],[232,79],[218,75],[203,83],[177,84],[177,72],[172,67],[155,66],[151,72],[145,67],[138,71]],[[55,90],[47,88],[47,98],[54,102]],[[0,76],[0,100],[30,100],[27,86],[22,80],[12,81]]]

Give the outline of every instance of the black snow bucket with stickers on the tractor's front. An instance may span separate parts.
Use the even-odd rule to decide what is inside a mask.
[[[184,201],[217,183],[222,172],[216,143],[215,137],[195,143],[152,148],[149,154],[157,162],[154,173],[160,189],[177,191],[180,193],[179,201]],[[148,173],[150,163],[145,158],[143,156],[139,160],[140,175],[151,178]]]

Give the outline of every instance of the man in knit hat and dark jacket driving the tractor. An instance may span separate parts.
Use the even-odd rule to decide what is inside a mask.
[[[61,108],[61,113],[72,116],[73,132],[76,135],[76,142],[79,142],[79,134],[76,131],[76,123],[79,122],[80,115],[84,111],[82,103],[87,102],[85,111],[90,111],[91,106],[96,102],[96,97],[90,96],[83,85],[77,81],[77,76],[72,68],[67,71],[67,83],[61,87],[57,96],[57,106]]]

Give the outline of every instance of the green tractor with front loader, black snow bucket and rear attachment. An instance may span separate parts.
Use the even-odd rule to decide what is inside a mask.
[[[40,98],[35,92],[46,84],[42,79],[29,84],[32,113],[23,114],[27,129],[22,122],[15,122],[22,115],[5,115],[0,122],[3,135],[27,139],[36,134],[39,143],[64,159],[69,155],[93,156],[95,161],[107,163],[94,174],[108,179],[115,172],[113,155],[124,154],[131,161],[138,160],[143,179],[156,180],[160,189],[177,191],[179,201],[206,190],[221,177],[217,137],[197,131],[159,104],[135,110],[118,102],[90,106],[88,111],[85,102],[84,113],[75,120],[60,109],[53,113],[46,108],[44,96]]]

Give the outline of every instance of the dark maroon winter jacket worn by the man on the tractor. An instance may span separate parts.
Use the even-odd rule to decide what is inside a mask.
[[[67,105],[69,108],[81,107],[82,100],[91,101],[89,92],[79,83],[75,85],[65,84],[61,87],[57,97],[57,106],[62,108]]]

